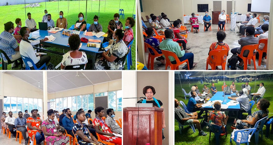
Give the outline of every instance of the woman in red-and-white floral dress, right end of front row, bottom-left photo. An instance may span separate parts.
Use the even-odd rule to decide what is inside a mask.
[[[102,117],[104,116],[104,108],[96,107],[95,113],[97,114],[97,116],[93,120],[93,126],[96,129],[96,133],[99,134],[101,140],[114,143],[116,145],[121,145],[121,138],[114,136],[113,131],[109,129],[105,121],[102,119]],[[114,133],[117,134],[117,132]]]

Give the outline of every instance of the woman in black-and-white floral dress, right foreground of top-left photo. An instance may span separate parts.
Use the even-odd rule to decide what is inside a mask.
[[[123,60],[128,54],[128,48],[123,39],[124,31],[117,29],[113,34],[115,43],[107,52],[102,52],[95,61],[96,70],[122,70],[124,67]]]

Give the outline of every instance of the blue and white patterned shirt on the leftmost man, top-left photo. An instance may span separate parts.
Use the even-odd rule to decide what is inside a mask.
[[[12,34],[7,31],[3,31],[0,34],[0,49],[3,50],[9,59],[12,59],[11,55],[15,54],[15,48],[18,47],[17,41]],[[4,61],[7,61],[7,58],[2,53]]]

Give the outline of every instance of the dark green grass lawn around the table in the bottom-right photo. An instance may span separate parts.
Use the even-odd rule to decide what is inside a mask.
[[[232,82],[233,78],[231,79],[231,81],[225,81],[227,85],[230,85],[231,82]],[[190,80],[188,80],[190,81]],[[197,81],[193,82],[193,81],[190,81],[188,82],[187,80],[181,80],[181,84],[179,82],[179,80],[177,80],[175,82],[175,98],[177,98],[178,101],[183,101],[186,105],[189,101],[189,97],[187,96],[187,99],[185,100],[185,97],[184,97],[184,93],[182,92],[181,90],[181,85],[182,85],[182,88],[184,88],[186,90],[187,93],[190,92],[190,88],[192,85],[194,84],[197,84],[198,86],[198,89],[201,91],[202,88],[204,87],[203,85],[201,85],[200,83],[198,84]],[[273,116],[272,112],[273,112],[273,99],[271,97],[271,94],[273,93],[273,90],[271,90],[271,88],[273,87],[273,83],[270,81],[270,80],[257,80],[256,82],[256,85],[259,84],[260,82],[263,82],[265,84],[265,88],[266,88],[266,93],[264,95],[264,98],[266,98],[267,100],[270,101],[271,105],[270,107],[268,108],[270,114],[269,114],[269,117],[270,116]],[[205,83],[204,84],[209,84],[209,83]],[[235,83],[236,85],[236,89],[239,90],[241,87],[241,84],[243,83]],[[222,90],[222,85],[223,85],[223,81],[219,81],[219,83],[215,83],[215,86],[217,88],[218,91],[221,91]],[[254,89],[254,85],[255,85],[255,82],[251,82],[249,83],[249,85],[252,87],[252,90],[251,92],[257,92],[259,86],[256,86],[256,89]],[[207,85],[209,88],[211,87],[211,84],[210,85]],[[256,108],[256,104],[253,105],[252,107],[252,112],[254,112]],[[257,110],[257,109],[256,109]],[[226,112],[227,114],[227,112]],[[243,118],[246,118],[248,114],[247,113],[243,113]],[[201,121],[201,120],[199,120]],[[230,134],[231,132],[233,131],[230,126],[233,124],[233,121],[234,121],[234,118],[230,118],[228,120],[228,123],[227,123],[227,131],[228,131],[228,134],[227,134],[227,137],[226,136],[222,136],[220,137],[220,144],[222,145],[230,145],[230,144],[236,144],[234,141],[232,141],[232,143],[230,143]],[[189,145],[207,145],[207,144],[211,144],[211,145],[214,145],[216,144],[216,141],[215,141],[215,138],[214,138],[214,133],[211,134],[211,142],[208,143],[209,141],[209,130],[206,129],[205,127],[203,128],[204,132],[207,133],[206,136],[199,136],[198,135],[198,129],[196,129],[196,133],[193,133],[192,129],[190,128],[190,126],[185,126],[183,131],[182,131],[182,134],[179,134],[179,128],[178,128],[178,122],[175,120],[175,144],[176,145],[185,145],[185,144],[189,144]],[[273,141],[273,135],[269,133],[269,138],[265,138],[265,132],[266,131],[266,126],[263,127],[263,138],[261,138],[261,135],[259,136],[259,144],[263,144],[263,145],[269,145],[269,144],[272,144],[272,141]],[[250,145],[251,144],[255,144],[255,137],[252,136],[251,142],[249,143]]]

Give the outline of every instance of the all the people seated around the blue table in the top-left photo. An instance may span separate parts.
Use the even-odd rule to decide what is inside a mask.
[[[43,16],[42,22],[47,22],[48,27],[54,27],[54,20],[51,19],[51,15],[48,14],[47,10],[44,11],[45,15]],[[42,40],[31,40],[32,32],[38,30],[36,28],[36,22],[31,18],[31,13],[28,13],[28,19],[25,21],[25,27],[22,27],[22,22],[20,18],[15,20],[15,24],[10,22],[5,23],[5,30],[0,34],[0,49],[3,50],[11,61],[15,61],[22,56],[30,58],[37,68],[43,66],[44,63],[48,64],[51,57],[49,55],[36,56],[33,51],[33,46],[38,45],[44,41],[47,41],[48,38]],[[78,31],[87,30],[87,23],[83,19],[83,13],[78,14],[79,20],[77,23],[81,23],[80,26],[74,29]],[[98,23],[98,16],[94,16],[94,22],[90,25],[88,31],[92,32],[101,32],[102,26]],[[56,27],[67,28],[67,20],[63,17],[63,11],[60,11],[60,18],[56,21]],[[104,42],[109,42],[111,49],[108,49],[107,52],[100,53],[96,59],[94,69],[97,70],[122,70],[125,64],[125,57],[128,54],[130,47],[128,44],[133,40],[134,34],[132,27],[135,25],[135,20],[132,17],[128,17],[125,23],[125,29],[123,29],[123,24],[119,21],[119,14],[114,14],[114,19],[110,20],[108,25],[108,31],[106,32],[107,37],[104,38]],[[85,52],[80,52],[81,39],[79,35],[75,34],[69,37],[68,40],[70,51],[63,55],[61,61],[61,70],[65,69],[65,66],[75,66],[87,64],[87,55]],[[19,46],[20,44],[20,46]],[[7,58],[2,54],[2,59],[4,62],[8,62]],[[25,67],[25,63],[23,67]],[[16,66],[16,62],[12,63],[11,69]],[[34,69],[31,62],[27,62],[30,69]],[[85,69],[84,67],[84,69]]]

